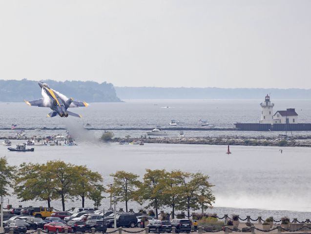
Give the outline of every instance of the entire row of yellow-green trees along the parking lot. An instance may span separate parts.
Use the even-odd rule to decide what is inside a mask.
[[[67,199],[81,198],[84,207],[85,198],[101,206],[104,192],[111,193],[118,201],[136,201],[145,204],[145,209],[153,208],[156,215],[159,209],[169,207],[172,217],[175,211],[204,211],[215,201],[208,182],[209,177],[202,173],[188,173],[180,170],[146,169],[142,180],[139,176],[125,171],[111,174],[113,183],[104,188],[103,177],[92,172],[86,166],[77,166],[60,160],[43,164],[23,163],[19,167],[10,166],[5,157],[0,158],[0,196],[9,195],[8,189],[21,201],[47,201],[48,207],[53,200],[62,200],[65,211]]]

